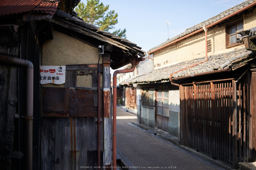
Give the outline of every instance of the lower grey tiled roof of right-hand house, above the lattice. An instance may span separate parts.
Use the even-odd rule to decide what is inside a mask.
[[[171,73],[180,71],[176,74],[173,74],[173,78],[195,75],[198,73],[210,72],[214,70],[221,70],[226,68],[236,69],[239,66],[242,66],[249,59],[256,58],[256,54],[253,54],[251,51],[247,51],[245,48],[240,48],[233,50],[229,53],[216,54],[208,57],[208,60],[204,63],[196,65],[194,67],[180,71],[181,69],[187,68],[191,65],[204,61],[205,57],[197,58],[190,61],[181,62],[169,67],[164,67],[161,69],[155,69],[145,75],[138,76],[132,80],[129,80],[129,83],[142,83],[142,82],[164,82],[169,81],[169,76]]]

